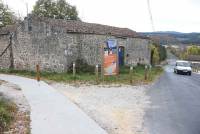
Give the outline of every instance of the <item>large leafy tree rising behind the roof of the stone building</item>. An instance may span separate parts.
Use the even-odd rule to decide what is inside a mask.
[[[38,0],[33,8],[34,15],[65,20],[79,20],[75,6],[65,0]]]

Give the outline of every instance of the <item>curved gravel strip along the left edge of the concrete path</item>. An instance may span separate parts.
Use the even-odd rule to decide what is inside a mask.
[[[30,106],[17,85],[0,81],[0,98],[8,99],[17,106],[15,120],[5,134],[30,133]]]

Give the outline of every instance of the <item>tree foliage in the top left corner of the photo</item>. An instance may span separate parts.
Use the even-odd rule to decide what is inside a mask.
[[[8,6],[0,1],[0,26],[11,25],[15,23],[13,12],[10,11]]]

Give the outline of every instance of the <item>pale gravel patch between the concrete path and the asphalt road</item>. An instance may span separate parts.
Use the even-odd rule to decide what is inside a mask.
[[[66,95],[109,134],[146,134],[145,109],[150,105],[149,86],[72,86],[51,84]]]

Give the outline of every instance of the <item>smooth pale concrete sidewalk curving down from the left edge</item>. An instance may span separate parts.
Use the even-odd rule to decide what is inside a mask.
[[[0,79],[22,88],[31,106],[31,134],[107,134],[45,82],[12,75],[0,75]]]

